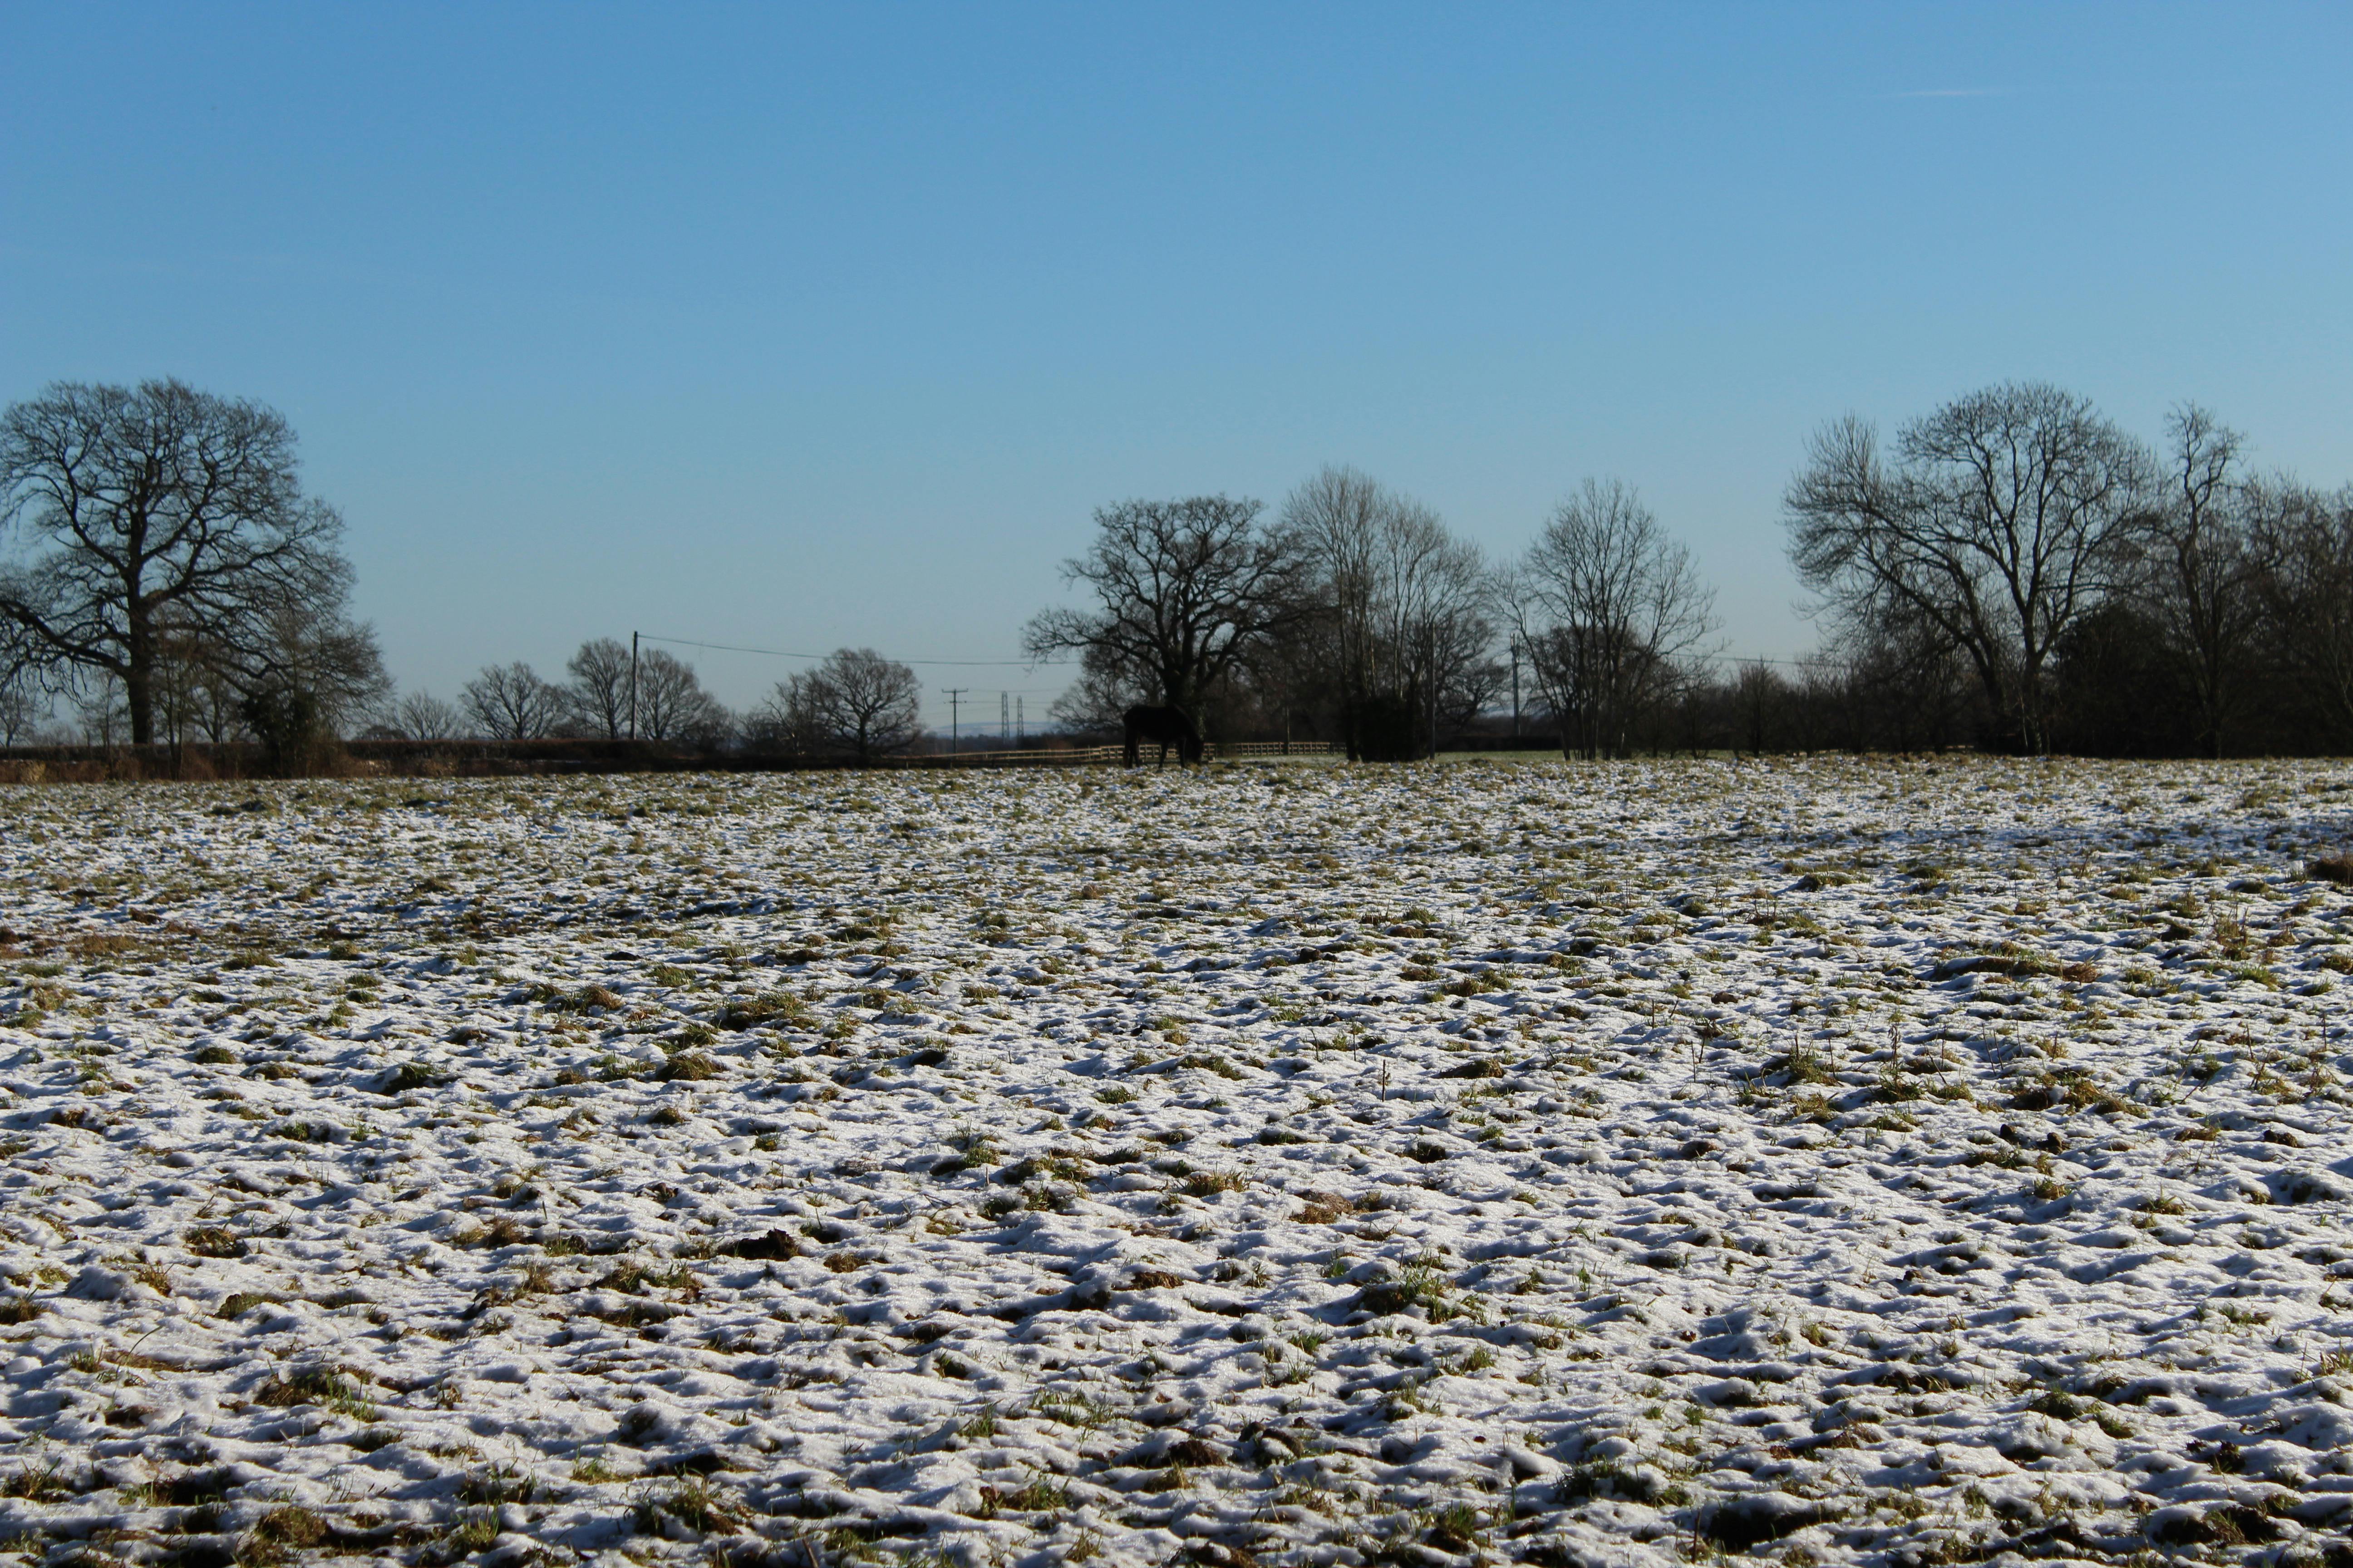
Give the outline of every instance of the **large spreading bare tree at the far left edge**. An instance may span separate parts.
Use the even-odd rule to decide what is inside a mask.
[[[348,585],[344,524],[301,494],[285,418],[179,381],[56,383],[9,407],[0,524],[19,543],[0,616],[52,689],[120,684],[141,745],[174,642],[247,696],[275,689],[273,616]]]

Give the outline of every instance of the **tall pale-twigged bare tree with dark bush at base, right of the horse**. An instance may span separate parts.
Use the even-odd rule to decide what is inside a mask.
[[[1282,503],[1282,527],[1306,562],[1351,759],[1424,755],[1494,696],[1487,567],[1438,512],[1325,468]]]

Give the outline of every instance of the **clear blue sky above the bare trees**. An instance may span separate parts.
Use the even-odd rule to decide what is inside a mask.
[[[1786,656],[1805,435],[2000,378],[2353,480],[2344,5],[0,12],[0,400],[280,407],[405,689],[1009,661],[1094,505],[1327,461],[1619,475]]]

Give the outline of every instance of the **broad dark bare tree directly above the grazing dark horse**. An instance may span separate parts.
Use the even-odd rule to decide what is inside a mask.
[[[1040,611],[1021,632],[1031,658],[1104,649],[1186,712],[1249,642],[1299,614],[1299,555],[1257,527],[1264,508],[1231,496],[1122,501],[1094,512],[1094,545],[1064,562],[1096,607]]]

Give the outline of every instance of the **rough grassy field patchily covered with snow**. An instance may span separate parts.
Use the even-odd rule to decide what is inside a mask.
[[[0,1559],[2353,1561],[2344,766],[0,825]]]

